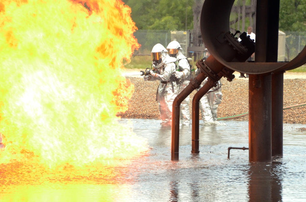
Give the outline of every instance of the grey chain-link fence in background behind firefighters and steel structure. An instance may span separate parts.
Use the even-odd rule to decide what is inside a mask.
[[[190,43],[190,34],[192,31],[188,32],[172,32],[170,30],[137,30],[134,33],[135,38],[137,38],[138,43],[141,44],[139,50],[134,52],[135,55],[150,55],[153,46],[157,43],[166,46],[175,38],[177,39],[180,34],[180,39],[177,40],[183,48],[184,55],[186,56],[185,51],[188,48]],[[283,38],[284,40],[284,48],[278,48],[279,55],[282,54],[283,57],[278,59],[279,61],[290,61],[295,58],[305,47],[306,45],[306,32],[293,32],[293,31],[284,31],[285,34]],[[185,39],[184,39],[185,37]],[[279,40],[281,40],[281,35],[279,35]],[[283,52],[283,53],[281,53]]]

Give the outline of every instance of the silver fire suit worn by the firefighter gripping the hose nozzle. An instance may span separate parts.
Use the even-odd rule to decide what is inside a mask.
[[[177,96],[177,83],[173,75],[175,72],[175,61],[175,58],[167,55],[166,59],[163,60],[164,65],[151,72],[147,79],[148,81],[160,81],[157,90],[160,124],[171,125],[172,121],[172,104]]]

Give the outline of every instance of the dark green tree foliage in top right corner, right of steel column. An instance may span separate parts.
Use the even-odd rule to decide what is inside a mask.
[[[279,29],[306,31],[306,0],[280,0]]]

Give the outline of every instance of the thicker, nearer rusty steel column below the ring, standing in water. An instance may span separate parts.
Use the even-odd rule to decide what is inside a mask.
[[[272,161],[271,80],[271,74],[249,75],[249,161],[253,162]]]

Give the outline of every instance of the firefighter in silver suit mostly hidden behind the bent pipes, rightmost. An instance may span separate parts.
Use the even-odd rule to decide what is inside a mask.
[[[206,60],[210,56],[207,49],[204,50],[203,60]],[[197,74],[200,73],[198,69]],[[200,88],[203,87],[207,82],[207,78],[201,83]],[[200,89],[199,88],[199,89]],[[202,120],[205,122],[217,121],[218,105],[222,101],[221,82],[218,81],[217,86],[211,88],[201,99],[200,99],[200,110]]]

